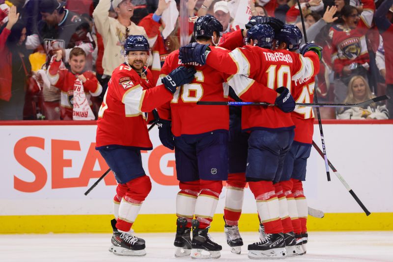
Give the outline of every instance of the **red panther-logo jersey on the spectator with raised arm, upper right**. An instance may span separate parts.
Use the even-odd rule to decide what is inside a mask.
[[[363,12],[355,29],[344,30],[342,25],[334,25],[329,32],[333,45],[333,69],[340,76],[344,66],[352,63],[364,64],[370,61],[365,34],[371,27],[375,4],[373,0],[363,0],[362,2]]]

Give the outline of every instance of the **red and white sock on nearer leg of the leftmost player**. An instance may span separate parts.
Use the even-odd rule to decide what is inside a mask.
[[[125,192],[119,206],[119,216],[116,228],[121,232],[129,232],[138,216],[143,201],[151,190],[148,176],[133,179],[127,183],[119,184],[120,192]],[[117,192],[119,196],[119,191]]]

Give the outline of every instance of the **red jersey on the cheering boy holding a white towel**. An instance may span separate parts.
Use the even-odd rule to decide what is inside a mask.
[[[52,58],[52,61],[48,68],[48,77],[51,79],[52,85],[56,86],[61,90],[60,94],[60,115],[63,120],[73,120],[73,99],[74,99],[74,88],[77,87],[75,80],[78,75],[74,75],[66,68],[60,69],[61,61],[56,61]],[[88,104],[91,106],[91,96],[99,96],[102,92],[102,87],[98,82],[95,75],[86,71],[82,75],[87,79],[83,83],[84,92],[86,93],[86,99]],[[78,86],[80,86],[78,84]],[[93,117],[94,118],[94,117]]]

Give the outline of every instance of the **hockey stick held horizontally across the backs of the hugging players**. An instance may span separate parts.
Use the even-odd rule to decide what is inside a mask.
[[[312,106],[312,107],[355,107],[355,106],[364,106],[369,105],[371,103],[376,103],[379,101],[390,99],[389,96],[383,95],[379,97],[374,97],[373,99],[367,100],[361,103],[355,104],[334,104],[334,103],[296,103],[298,106]],[[276,104],[269,104],[266,102],[214,102],[214,101],[198,101],[197,105],[262,105],[262,106],[275,106]]]

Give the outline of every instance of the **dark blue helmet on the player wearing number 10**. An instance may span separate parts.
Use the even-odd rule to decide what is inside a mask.
[[[255,25],[247,31],[248,41],[253,46],[271,49],[273,46],[274,29],[269,25]]]

